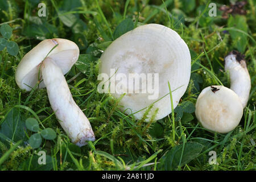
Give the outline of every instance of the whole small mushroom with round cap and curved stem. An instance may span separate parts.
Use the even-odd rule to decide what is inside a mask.
[[[196,118],[205,129],[217,133],[228,133],[238,126],[251,88],[246,62],[239,52],[225,57],[225,69],[230,73],[230,89],[208,86],[196,101]]]

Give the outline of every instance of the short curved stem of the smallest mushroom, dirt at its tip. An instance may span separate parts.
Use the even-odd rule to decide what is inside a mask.
[[[225,70],[230,74],[230,89],[238,95],[245,108],[249,99],[251,78],[241,53],[232,51],[225,57]]]

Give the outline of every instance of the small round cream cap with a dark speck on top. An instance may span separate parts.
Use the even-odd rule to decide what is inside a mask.
[[[228,133],[240,123],[243,106],[233,90],[214,85],[202,90],[196,101],[195,113],[205,129]]]

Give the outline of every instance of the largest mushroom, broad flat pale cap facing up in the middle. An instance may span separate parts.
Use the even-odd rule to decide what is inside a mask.
[[[126,114],[133,114],[137,119],[141,119],[145,108],[152,104],[148,118],[156,109],[156,120],[170,114],[168,81],[175,108],[187,89],[191,75],[191,55],[187,44],[177,32],[160,24],[146,24],[126,32],[110,44],[100,60],[98,79],[108,75],[105,81],[110,78],[110,94],[119,98],[125,93],[119,105],[123,106],[121,109]],[[130,80],[132,76],[135,78]]]

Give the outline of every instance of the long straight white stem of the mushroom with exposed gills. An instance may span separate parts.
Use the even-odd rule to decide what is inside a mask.
[[[41,71],[51,107],[72,142],[84,146],[86,140],[94,141],[90,122],[73,100],[61,69],[50,58],[46,58]]]

